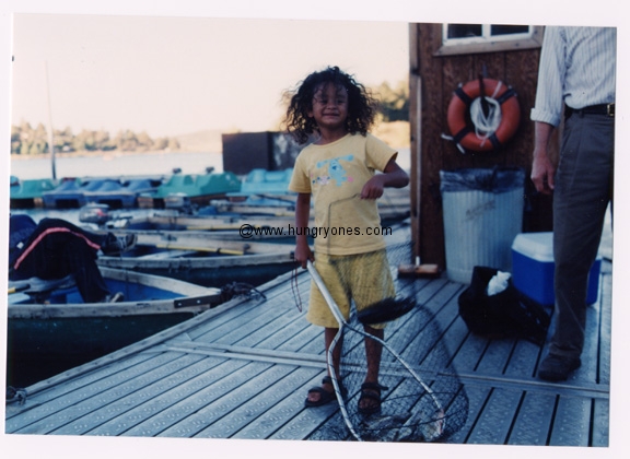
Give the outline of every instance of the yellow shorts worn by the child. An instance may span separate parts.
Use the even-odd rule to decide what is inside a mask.
[[[361,310],[396,294],[385,249],[342,256],[315,254],[314,264],[346,319],[350,315],[352,299],[357,310]],[[306,319],[316,326],[339,327],[315,282],[311,282]]]

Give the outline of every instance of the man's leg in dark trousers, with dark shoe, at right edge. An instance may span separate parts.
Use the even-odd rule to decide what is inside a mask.
[[[588,272],[597,256],[612,177],[614,122],[571,116],[564,126],[553,192],[555,332],[539,376],[565,379],[580,366]]]

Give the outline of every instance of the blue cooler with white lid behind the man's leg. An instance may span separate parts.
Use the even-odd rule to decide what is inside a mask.
[[[553,233],[523,233],[512,244],[512,281],[527,297],[542,306],[553,306]],[[597,302],[602,258],[588,274],[586,304]]]

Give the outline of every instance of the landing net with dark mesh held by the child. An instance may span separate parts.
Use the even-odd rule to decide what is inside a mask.
[[[366,257],[365,262],[372,262],[369,255],[351,258],[361,263],[363,257]],[[393,279],[396,280],[395,269],[399,264],[409,263],[410,258],[410,242],[388,245],[387,260]],[[358,272],[348,269],[348,266],[357,264],[348,264],[346,261],[337,264],[338,275],[342,283],[354,278],[352,282],[357,285]],[[373,280],[370,282],[374,283]],[[358,314],[353,303],[350,317],[341,326],[337,341],[332,344],[341,345],[339,372],[336,375],[338,399],[341,396],[340,410],[322,425],[313,439],[442,442],[464,425],[468,399],[452,366],[441,327],[428,307],[416,303],[418,285],[422,282],[425,281],[396,280],[396,296],[381,306],[385,309],[400,309],[400,313],[395,314],[400,317],[385,325],[381,345],[366,345],[368,341],[378,342],[378,338],[373,339],[370,332],[365,332],[364,323],[359,319],[361,314]],[[352,292],[348,292],[348,296],[352,296]],[[381,306],[375,309],[378,310]],[[366,355],[366,349],[374,354]],[[368,375],[366,362],[378,353],[381,408],[366,413],[364,411],[370,410],[361,410],[360,405],[374,405],[373,399],[360,402],[362,392],[365,392],[362,391],[362,385]],[[327,361],[332,365],[331,352]]]

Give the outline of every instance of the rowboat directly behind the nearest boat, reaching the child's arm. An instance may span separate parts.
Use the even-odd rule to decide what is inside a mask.
[[[101,256],[101,267],[167,275],[200,285],[237,281],[260,285],[295,268],[294,236],[288,244],[222,237],[203,231],[116,229],[133,233],[136,246],[120,257]]]

